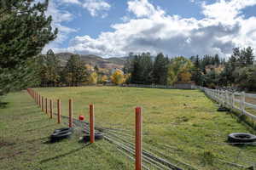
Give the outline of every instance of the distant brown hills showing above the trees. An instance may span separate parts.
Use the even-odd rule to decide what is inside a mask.
[[[70,58],[72,53],[59,53],[55,54],[61,59],[61,65],[65,65],[67,63],[67,59]],[[113,68],[119,68],[122,69],[125,65],[125,59],[126,58],[108,58],[108,59],[103,59],[100,56],[93,55],[93,54],[81,54],[80,55],[81,59],[91,65],[97,65],[100,68],[105,68],[108,70],[111,70]]]

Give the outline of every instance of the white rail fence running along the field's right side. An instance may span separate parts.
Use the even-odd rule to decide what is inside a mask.
[[[218,90],[218,89],[210,89],[199,87],[202,91],[204,91],[211,99],[217,101],[219,104],[224,105],[225,107],[241,112],[241,115],[248,116],[256,121],[256,114],[250,113],[249,111],[253,111],[256,113],[256,105],[252,103],[247,103],[246,98],[255,99],[256,94],[246,94],[242,93],[232,93],[227,90]],[[246,111],[246,108],[250,108],[249,111]]]

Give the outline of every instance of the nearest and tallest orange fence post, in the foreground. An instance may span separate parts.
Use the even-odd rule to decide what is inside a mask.
[[[135,137],[135,167],[136,170],[142,169],[142,122],[143,122],[143,116],[142,116],[142,109],[141,107],[137,107],[135,109],[135,117],[136,117],[136,137]]]

